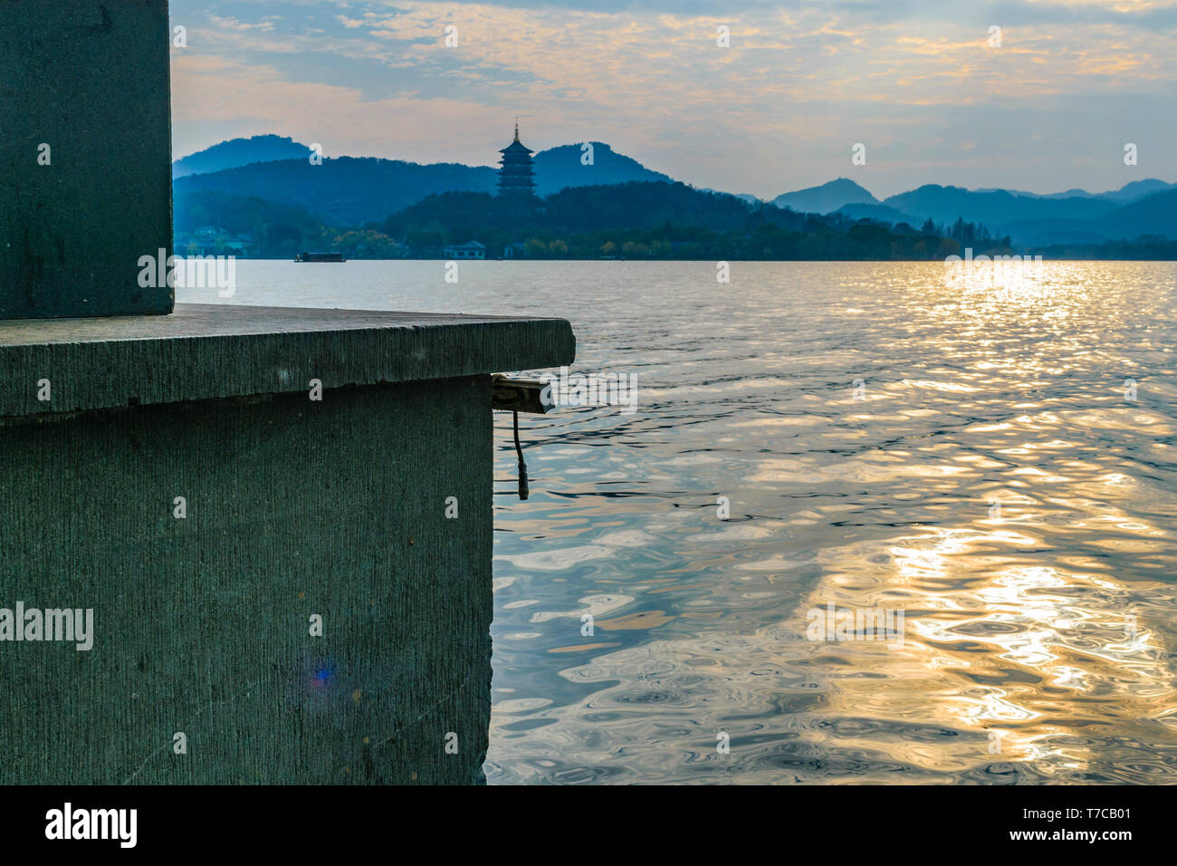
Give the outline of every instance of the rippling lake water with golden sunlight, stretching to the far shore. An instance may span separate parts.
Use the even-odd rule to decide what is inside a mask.
[[[238,263],[230,303],[560,316],[637,375],[520,419],[488,780],[1177,781],[1177,264],[716,276]],[[811,640],[831,604],[903,628]]]

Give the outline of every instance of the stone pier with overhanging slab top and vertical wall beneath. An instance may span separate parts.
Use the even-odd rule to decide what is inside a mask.
[[[0,614],[0,784],[480,781],[490,373],[573,350],[560,319],[0,322],[0,608],[93,612],[89,649]]]

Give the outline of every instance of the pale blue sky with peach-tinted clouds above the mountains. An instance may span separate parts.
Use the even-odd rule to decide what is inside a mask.
[[[177,158],[275,133],[328,157],[494,165],[518,115],[534,150],[605,141],[677,180],[762,198],[839,177],[879,198],[922,184],[1050,193],[1177,180],[1177,0],[171,11],[186,31],[172,48]]]

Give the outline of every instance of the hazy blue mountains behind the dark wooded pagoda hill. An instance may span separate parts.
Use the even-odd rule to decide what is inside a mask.
[[[381,223],[427,196],[443,192],[493,192],[497,171],[454,163],[420,165],[371,157],[338,157],[312,165],[310,150],[290,138],[257,135],[214,145],[173,164],[177,222],[189,197],[224,193],[255,197],[297,206],[328,225]],[[539,151],[534,156],[537,192],[633,181],[672,183],[661,172],[592,143],[592,164],[581,164],[579,144]],[[726,193],[724,193],[726,194]],[[754,196],[736,196],[745,206]],[[204,199],[207,201],[207,198]],[[799,213],[838,213],[919,229],[931,219],[938,226],[958,220],[1010,236],[1015,246],[1098,244],[1153,234],[1177,239],[1177,184],[1153,178],[1133,180],[1119,190],[1092,193],[1068,190],[1037,194],[1011,190],[965,190],[929,184],[877,199],[847,178],[797,190],[772,205]]]

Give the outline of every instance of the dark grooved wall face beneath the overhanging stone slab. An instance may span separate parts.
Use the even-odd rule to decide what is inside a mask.
[[[0,423],[0,607],[94,610],[0,642],[0,784],[481,780],[491,423],[487,376]]]

